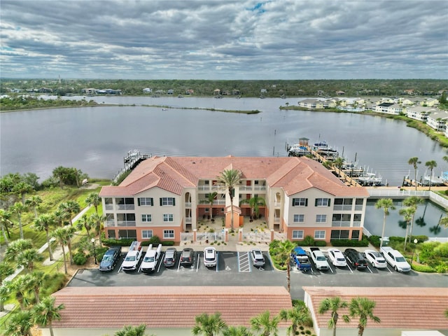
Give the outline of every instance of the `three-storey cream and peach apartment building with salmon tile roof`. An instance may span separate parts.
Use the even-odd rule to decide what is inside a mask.
[[[241,179],[231,204],[217,176],[237,169]],[[216,192],[213,200],[210,195]],[[323,165],[309,158],[153,157],[141,162],[119,186],[99,193],[106,238],[181,241],[196,232],[198,222],[214,218],[238,229],[253,215],[248,204],[265,200],[259,215],[271,232],[287,239],[361,239],[369,193],[348,187]],[[193,236],[194,237],[194,236]]]

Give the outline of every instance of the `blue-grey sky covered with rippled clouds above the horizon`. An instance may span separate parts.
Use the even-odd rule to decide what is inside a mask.
[[[0,11],[3,78],[448,78],[447,0],[1,0]]]

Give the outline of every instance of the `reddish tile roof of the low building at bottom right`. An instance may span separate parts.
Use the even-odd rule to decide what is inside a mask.
[[[448,322],[444,317],[447,309],[448,288],[409,288],[409,287],[303,287],[311,297],[314,311],[325,297],[339,296],[349,302],[353,297],[367,297],[376,302],[374,315],[381,323],[369,320],[367,328],[373,329],[430,329],[447,330]],[[340,309],[339,316],[348,314]],[[330,312],[316,314],[319,328],[327,328]],[[342,322],[342,321],[341,321]],[[337,323],[337,329],[357,328],[358,318],[350,323]]]

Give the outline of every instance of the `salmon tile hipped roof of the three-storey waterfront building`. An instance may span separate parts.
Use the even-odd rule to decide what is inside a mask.
[[[199,179],[216,179],[224,169],[239,169],[243,179],[266,179],[274,188],[293,195],[318,188],[335,196],[368,196],[362,187],[347,187],[328,169],[309,158],[153,157],[138,165],[120,186],[105,186],[100,196],[136,195],[153,187],[181,195]]]

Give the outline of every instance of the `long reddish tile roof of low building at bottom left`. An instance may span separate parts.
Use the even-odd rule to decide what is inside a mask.
[[[281,286],[66,287],[52,295],[65,306],[53,328],[193,328],[195,316],[216,311],[229,325],[250,326],[263,311],[276,315],[292,307]]]

